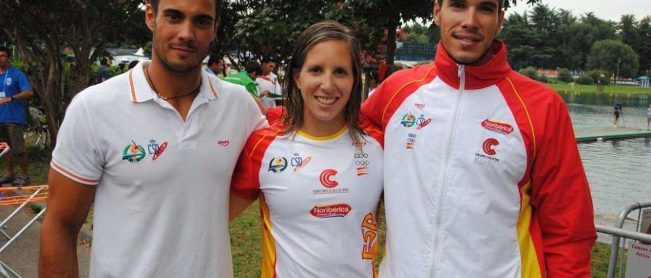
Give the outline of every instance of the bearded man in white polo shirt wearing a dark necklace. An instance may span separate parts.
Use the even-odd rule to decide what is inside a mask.
[[[79,93],[49,172],[39,274],[76,277],[94,203],[90,277],[232,277],[230,177],[264,117],[201,70],[219,0],[152,0],[152,62]]]

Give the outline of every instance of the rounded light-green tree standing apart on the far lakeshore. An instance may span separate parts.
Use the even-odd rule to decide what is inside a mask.
[[[616,73],[618,66],[621,77],[635,77],[637,74],[639,60],[630,45],[619,40],[600,40],[592,45],[588,68]]]

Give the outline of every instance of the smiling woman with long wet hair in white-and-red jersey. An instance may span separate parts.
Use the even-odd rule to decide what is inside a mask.
[[[262,277],[374,277],[382,149],[359,125],[359,45],[335,21],[303,31],[280,121],[247,141],[230,217],[259,197]],[[379,137],[379,136],[378,136]]]

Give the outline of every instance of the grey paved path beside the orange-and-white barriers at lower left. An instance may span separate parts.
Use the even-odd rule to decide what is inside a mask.
[[[18,206],[0,206],[0,220],[4,220]],[[47,213],[47,212],[46,212]],[[23,227],[35,214],[29,211],[29,206],[23,208],[7,223],[7,229],[3,229],[10,236]],[[18,238],[11,246],[0,254],[0,260],[21,277],[38,277],[38,238],[42,221],[36,221],[25,233]],[[0,244],[7,242],[4,236],[0,235]],[[83,244],[77,245],[77,257],[79,259],[80,277],[88,277],[90,262],[90,247]]]

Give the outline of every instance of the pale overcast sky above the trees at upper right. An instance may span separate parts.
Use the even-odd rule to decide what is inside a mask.
[[[644,16],[651,16],[651,0],[542,0],[542,3],[550,8],[572,10],[572,14],[577,18],[586,12],[594,12],[598,18],[616,22],[622,14],[633,14],[637,20]],[[518,3],[517,6],[506,11],[506,16],[513,12],[521,14],[527,9],[531,9],[531,6]]]

